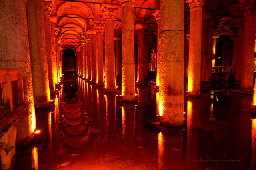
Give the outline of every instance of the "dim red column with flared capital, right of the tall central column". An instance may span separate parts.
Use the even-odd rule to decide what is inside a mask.
[[[148,24],[143,22],[137,22],[134,26],[136,28],[138,33],[138,76],[137,76],[137,82],[138,84],[143,84],[145,79],[145,47],[144,47],[144,30],[147,28]]]

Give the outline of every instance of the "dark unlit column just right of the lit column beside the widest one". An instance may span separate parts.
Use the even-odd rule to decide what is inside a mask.
[[[209,80],[209,33],[210,33],[210,14],[204,13],[202,16],[202,49],[201,49],[201,81]]]

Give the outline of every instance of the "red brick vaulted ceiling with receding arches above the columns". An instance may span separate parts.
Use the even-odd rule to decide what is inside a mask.
[[[47,1],[47,0],[45,0]],[[110,0],[109,0],[110,1]],[[112,0],[119,3],[118,0]],[[156,38],[157,24],[153,14],[159,10],[160,0],[135,0],[134,2],[134,22],[148,22],[146,35],[148,38]],[[111,1],[110,1],[111,2]],[[94,20],[102,20],[100,10],[102,0],[52,0],[52,16],[57,16],[56,27],[61,38],[62,46],[77,46],[86,38],[89,29],[93,29]],[[189,32],[190,8],[184,0],[184,22],[185,31]],[[242,17],[242,9],[239,8],[238,0],[205,0],[203,13],[210,14],[212,32],[224,32],[226,29],[236,29],[239,18]],[[229,17],[229,18],[227,18]],[[121,6],[116,14],[115,30],[121,33],[122,16]],[[218,29],[218,24],[231,20]],[[70,28],[66,28],[70,27]],[[227,35],[234,34],[227,32]],[[136,32],[135,32],[136,36]],[[72,38],[72,39],[68,39]]]

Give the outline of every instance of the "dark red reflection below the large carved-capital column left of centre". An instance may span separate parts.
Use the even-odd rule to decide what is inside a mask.
[[[106,93],[108,144],[116,144],[116,93]]]

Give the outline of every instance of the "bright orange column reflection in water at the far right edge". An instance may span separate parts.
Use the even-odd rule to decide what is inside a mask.
[[[252,119],[252,136],[251,136],[251,167],[250,170],[256,169],[256,119]]]

